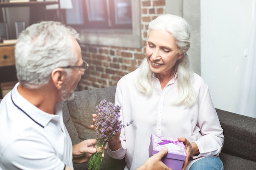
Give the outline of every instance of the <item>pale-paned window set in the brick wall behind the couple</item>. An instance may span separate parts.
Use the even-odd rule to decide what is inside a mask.
[[[87,29],[131,29],[131,0],[72,0],[66,24]]]

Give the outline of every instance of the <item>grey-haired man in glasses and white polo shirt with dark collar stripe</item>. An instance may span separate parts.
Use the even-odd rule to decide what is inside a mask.
[[[33,24],[19,36],[19,82],[0,103],[0,170],[70,170],[96,152],[96,139],[72,146],[63,123],[62,101],[74,97],[89,66],[77,40],[74,29],[53,21]],[[161,162],[166,152],[140,169],[157,164],[167,168]]]

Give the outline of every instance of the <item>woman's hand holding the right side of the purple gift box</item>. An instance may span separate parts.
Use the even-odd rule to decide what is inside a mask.
[[[190,143],[185,137],[179,137],[178,141],[183,142],[183,144],[186,146],[186,159],[182,166],[182,170],[184,170],[189,163],[189,158],[191,155],[198,155],[200,152],[198,150],[198,145],[194,142]]]

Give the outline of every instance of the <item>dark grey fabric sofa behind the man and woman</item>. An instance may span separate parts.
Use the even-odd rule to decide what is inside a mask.
[[[92,114],[102,99],[114,102],[116,86],[75,92],[63,103],[63,119],[73,144],[95,138],[90,128]],[[1,101],[1,99],[0,99]],[[225,170],[256,170],[256,119],[216,109],[224,129],[225,143],[220,154]],[[105,152],[101,170],[123,170],[124,160],[112,159]],[[88,170],[87,163],[74,164],[74,170]]]

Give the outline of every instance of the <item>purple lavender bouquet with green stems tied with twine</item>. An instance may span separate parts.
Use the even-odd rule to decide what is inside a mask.
[[[122,124],[119,120],[121,106],[114,106],[111,102],[107,102],[105,99],[101,100],[97,109],[97,117],[95,118],[94,130],[96,132],[96,149],[97,152],[92,155],[88,162],[89,170],[99,170],[102,159],[101,152],[103,146],[115,136],[117,132],[126,126],[132,124],[131,120],[126,125]]]

